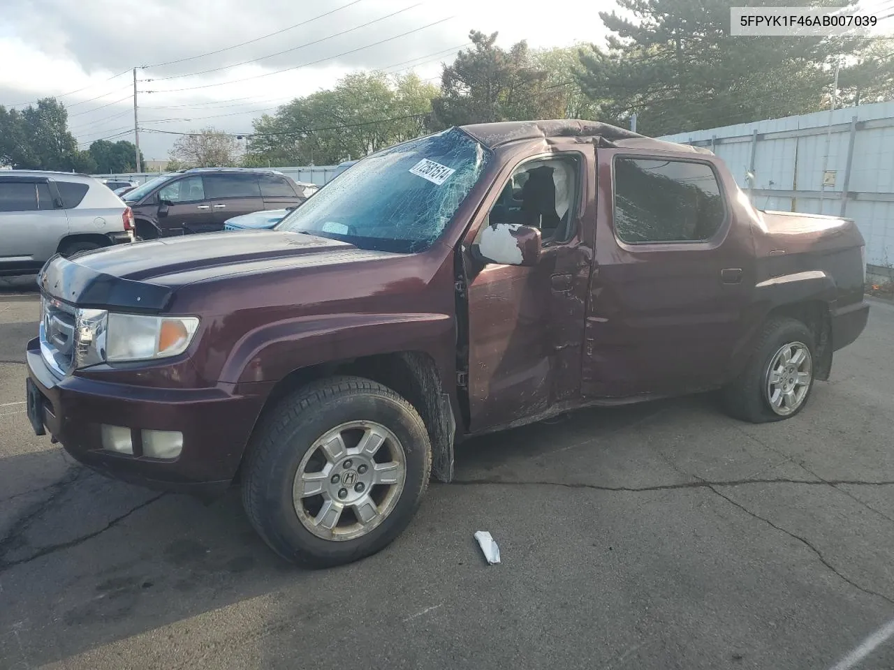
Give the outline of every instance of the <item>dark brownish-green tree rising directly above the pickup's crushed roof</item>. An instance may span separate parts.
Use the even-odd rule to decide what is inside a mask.
[[[441,95],[432,101],[435,129],[467,123],[552,119],[563,113],[563,96],[547,88],[549,75],[521,41],[509,51],[497,33],[469,33],[473,47],[456,54],[441,74]]]

